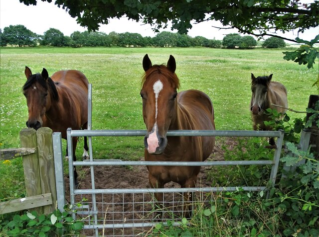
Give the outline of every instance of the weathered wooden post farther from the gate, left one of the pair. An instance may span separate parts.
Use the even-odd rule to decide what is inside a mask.
[[[33,128],[25,128],[20,131],[20,144],[21,147],[25,148],[37,147],[36,132]],[[23,156],[22,161],[24,169],[26,196],[31,197],[42,194],[39,172],[39,160],[37,152]],[[39,214],[43,213],[42,207],[37,207],[31,210],[34,210]]]

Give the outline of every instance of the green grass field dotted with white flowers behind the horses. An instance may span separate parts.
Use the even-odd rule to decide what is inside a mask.
[[[27,106],[21,92],[26,80],[24,68],[32,73],[46,68],[49,75],[59,70],[82,71],[93,87],[93,129],[145,129],[140,97],[142,60],[149,54],[153,64],[166,63],[169,55],[176,60],[180,90],[195,88],[206,92],[215,109],[217,130],[251,130],[250,75],[274,74],[273,80],[286,85],[289,107],[305,111],[312,84],[318,77],[294,62],[283,60],[282,51],[225,50],[208,48],[1,48],[0,49],[0,143],[5,148],[19,147],[19,131],[25,128]],[[291,118],[304,114],[289,114]],[[82,155],[82,144],[77,156]],[[143,157],[142,137],[94,138],[94,158],[138,159]],[[65,146],[65,145],[64,145]],[[14,163],[15,162],[15,163]],[[0,173],[21,174],[20,159],[8,169],[0,163]],[[3,181],[3,182],[2,182]],[[2,188],[5,189],[4,186]]]

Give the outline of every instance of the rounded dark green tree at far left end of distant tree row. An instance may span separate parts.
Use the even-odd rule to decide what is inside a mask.
[[[36,42],[37,35],[28,30],[24,25],[10,25],[4,27],[3,33],[1,34],[1,46],[35,46]]]

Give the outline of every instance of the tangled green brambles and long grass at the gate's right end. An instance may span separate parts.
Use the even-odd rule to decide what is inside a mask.
[[[149,236],[318,237],[319,160],[314,158],[310,150],[300,151],[297,144],[303,128],[311,127],[313,122],[319,125],[319,102],[315,109],[307,109],[307,112],[313,113],[307,122],[305,119],[295,119],[291,122],[287,114],[268,110],[273,118],[268,124],[285,132],[285,148],[288,152],[286,151],[281,158],[281,166],[285,164],[295,167],[288,171],[280,169],[282,172],[278,173],[275,186],[269,186],[267,192],[252,193],[236,188],[235,192],[213,193],[210,195],[212,199],[208,206],[200,202],[195,204],[190,220],[182,219],[181,223],[177,223],[179,226],[173,222],[168,222],[168,225],[158,224]],[[280,120],[281,116],[284,116],[284,119]],[[269,154],[264,154],[265,151],[260,147],[263,145],[255,139],[249,142],[239,140],[239,146],[231,151],[226,150],[225,157],[246,159],[251,155],[250,159],[255,159],[259,155],[268,156]],[[305,162],[300,164],[301,160]],[[243,169],[246,171],[243,172]],[[221,178],[218,178],[218,175],[225,172],[223,168],[220,172],[213,172],[217,181],[224,184],[229,182],[227,177],[231,175],[236,177],[230,181],[231,183],[239,179],[247,183],[247,180],[250,182],[256,177],[257,181],[260,181],[254,172],[261,171],[247,167],[238,171],[238,167],[235,167],[231,171],[228,170],[227,177],[221,175]],[[264,174],[266,173],[260,175]]]

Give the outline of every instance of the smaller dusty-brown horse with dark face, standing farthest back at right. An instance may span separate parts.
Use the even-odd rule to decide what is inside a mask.
[[[270,118],[265,114],[268,108],[276,109],[279,113],[285,113],[288,107],[287,89],[278,82],[272,81],[273,75],[257,77],[251,74],[251,101],[250,111],[253,120],[254,130],[272,130],[271,127],[266,126],[264,121],[269,121]],[[282,107],[274,106],[280,105]],[[274,138],[270,138],[270,145],[275,145]]]

